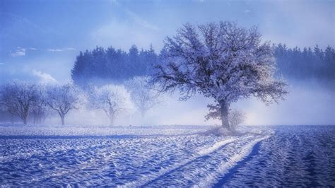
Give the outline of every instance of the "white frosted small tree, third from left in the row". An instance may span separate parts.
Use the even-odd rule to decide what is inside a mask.
[[[132,108],[131,98],[124,86],[106,85],[100,88],[93,88],[89,92],[88,104],[90,108],[103,110],[110,119],[110,125],[120,112]]]

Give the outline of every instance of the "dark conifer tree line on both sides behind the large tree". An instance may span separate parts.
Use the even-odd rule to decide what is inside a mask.
[[[276,59],[276,75],[288,79],[303,80],[317,78],[324,81],[335,79],[334,48],[322,49],[317,45],[312,49],[304,47],[289,48],[286,45],[272,45]],[[79,86],[104,81],[125,81],[134,76],[152,76],[158,61],[162,61],[165,49],[155,53],[152,45],[149,49],[139,50],[133,45],[129,52],[109,47],[96,47],[92,51],[80,52],[71,77]]]

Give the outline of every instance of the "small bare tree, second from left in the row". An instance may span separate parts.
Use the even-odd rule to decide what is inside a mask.
[[[65,115],[83,104],[81,90],[73,84],[55,85],[47,88],[47,105],[58,112],[61,124],[64,125]]]

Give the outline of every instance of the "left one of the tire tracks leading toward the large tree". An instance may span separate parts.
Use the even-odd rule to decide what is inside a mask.
[[[249,137],[249,136],[247,136]],[[245,137],[245,138],[247,138]],[[198,152],[195,153],[192,158],[187,158],[185,160],[181,160],[178,163],[175,163],[172,165],[170,168],[165,168],[163,170],[160,170],[159,172],[156,172],[155,174],[148,175],[146,177],[141,177],[139,178],[140,181],[136,182],[129,182],[124,185],[124,187],[146,187],[146,185],[151,184],[152,182],[155,182],[156,180],[159,180],[160,177],[163,177],[165,175],[170,174],[171,172],[175,172],[176,170],[179,170],[180,168],[184,167],[185,165],[191,164],[194,160],[198,158],[202,158],[205,155],[209,155],[223,147],[225,147],[228,143],[232,143],[233,141],[237,141],[242,138],[230,138],[230,139],[225,139],[223,141],[218,141],[213,144],[210,148],[199,148]]]

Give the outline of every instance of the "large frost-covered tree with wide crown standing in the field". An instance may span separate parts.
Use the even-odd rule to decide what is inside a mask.
[[[167,37],[155,66],[161,91],[180,90],[181,100],[200,93],[213,98],[223,127],[231,129],[232,102],[255,96],[269,104],[283,99],[286,83],[276,80],[276,62],[269,42],[261,42],[257,28],[240,28],[234,22],[185,24]]]

